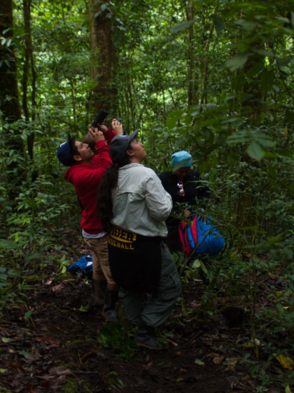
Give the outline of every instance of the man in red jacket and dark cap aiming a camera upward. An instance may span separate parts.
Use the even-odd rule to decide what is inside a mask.
[[[64,178],[74,185],[83,208],[81,228],[83,239],[91,249],[93,257],[91,289],[94,302],[100,307],[104,304],[104,317],[109,321],[116,321],[115,305],[119,288],[111,277],[108,265],[108,236],[103,232],[97,217],[98,186],[104,172],[111,164],[108,144],[116,136],[116,132],[103,124],[98,126],[100,130],[89,129],[96,143],[98,155],[94,155],[88,144],[76,141],[68,134],[67,141],[59,146],[57,157],[61,164],[70,166]],[[123,132],[120,123],[112,121],[112,126],[118,134]]]

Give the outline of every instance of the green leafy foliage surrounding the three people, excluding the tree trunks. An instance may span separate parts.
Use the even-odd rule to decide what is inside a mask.
[[[25,301],[17,295],[24,294],[25,272],[45,264],[64,272],[65,254],[51,251],[60,251],[65,223],[78,230],[76,196],[63,179],[56,149],[68,132],[81,139],[93,118],[87,6],[46,0],[31,10],[37,79],[33,106],[30,71],[28,105],[34,120],[9,124],[1,118],[0,124],[2,309]],[[270,357],[281,337],[282,351],[293,339],[293,6],[278,0],[192,1],[191,6],[187,18],[180,1],[101,4],[111,20],[112,84],[119,92],[111,103],[117,113],[109,118],[121,117],[126,131],[139,128],[146,164],[157,173],[170,170],[171,154],[181,149],[203,173],[211,189],[206,212],[233,233],[222,258],[195,261],[183,271],[184,283],[208,272],[211,287],[203,294],[208,314],[219,293],[233,302],[241,292],[239,301],[249,299],[254,309],[258,274],[283,280],[278,291],[273,287],[266,294],[273,308],[252,317],[252,334],[263,340]],[[1,46],[16,51],[22,99],[21,1],[15,1],[14,26],[14,39],[1,39]],[[10,62],[9,56],[0,59],[0,66]],[[15,141],[28,146],[33,136],[33,158],[27,149],[12,149]],[[183,255],[176,259],[183,267]],[[130,360],[133,344],[126,337],[113,327],[101,333],[101,345]],[[253,374],[263,378],[261,392],[270,381],[255,366]],[[118,376],[109,378],[120,388]]]

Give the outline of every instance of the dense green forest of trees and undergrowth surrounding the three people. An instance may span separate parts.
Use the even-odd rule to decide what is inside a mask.
[[[163,332],[163,341],[174,342],[177,325],[213,329],[220,313],[233,307],[242,314],[233,327],[242,345],[237,338],[230,345],[238,347],[238,365],[253,381],[250,391],[293,391],[293,1],[0,0],[0,35],[1,392],[40,391],[33,372],[16,365],[18,356],[30,359],[32,349],[26,345],[26,354],[17,355],[13,346],[17,328],[38,327],[37,289],[45,291],[50,277],[55,287],[73,280],[71,291],[81,285],[90,291],[86,278],[66,272],[86,249],[76,193],[56,151],[69,132],[81,140],[101,108],[109,112],[106,124],[115,117],[127,133],[138,128],[148,154],[144,164],[157,174],[170,169],[174,151],[192,154],[193,167],[211,189],[206,213],[228,238],[225,252],[210,261],[187,263],[183,254],[174,255],[183,298],[171,337]],[[201,288],[197,307],[193,288]],[[50,293],[47,302],[54,304]],[[71,315],[76,312],[71,307]],[[105,360],[103,351],[113,364],[120,356],[121,367],[138,358],[128,341],[123,347],[117,329],[127,328],[101,330],[97,364]],[[205,369],[208,359],[201,353],[192,362]],[[169,356],[161,354],[161,362]],[[214,369],[224,367],[215,359]],[[113,364],[101,382],[108,389],[78,384],[74,374],[67,374],[62,388],[54,390],[51,382],[40,389],[249,392],[242,384],[234,390],[233,383],[230,389],[199,388],[196,379],[189,390],[188,382],[181,385],[184,372],[174,390],[132,390],[128,373]],[[28,376],[26,387],[12,384],[11,369]]]

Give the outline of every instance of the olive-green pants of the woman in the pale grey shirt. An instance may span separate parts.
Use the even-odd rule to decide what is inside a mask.
[[[126,316],[135,325],[143,320],[148,326],[161,326],[170,317],[176,300],[181,294],[178,270],[164,242],[161,244],[161,257],[161,277],[156,294],[138,294],[124,289],[120,291]]]

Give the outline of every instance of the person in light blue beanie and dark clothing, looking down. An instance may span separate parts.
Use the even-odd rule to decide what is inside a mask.
[[[183,251],[178,226],[181,219],[188,217],[191,209],[199,209],[209,197],[209,189],[201,181],[201,174],[191,169],[192,156],[186,150],[176,151],[171,156],[171,171],[159,174],[163,188],[168,191],[173,200],[173,209],[166,219],[168,237],[166,244],[171,252]],[[185,217],[181,217],[183,211]]]

